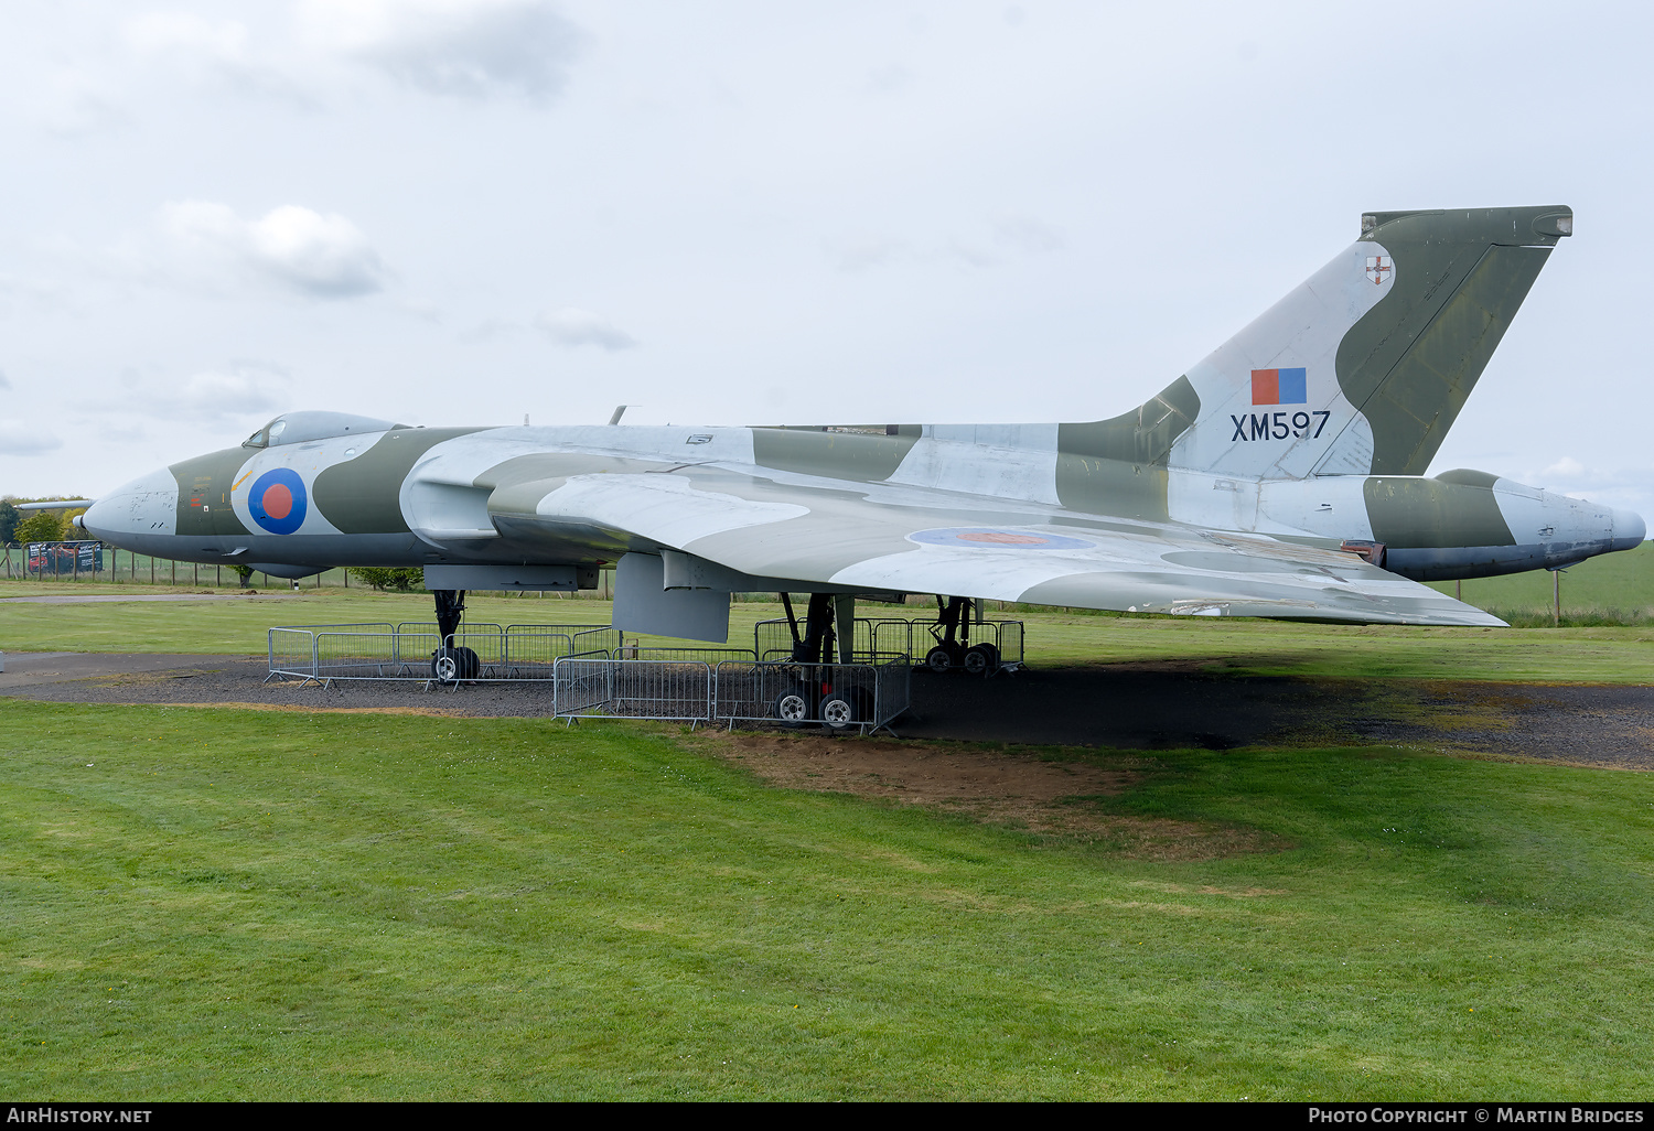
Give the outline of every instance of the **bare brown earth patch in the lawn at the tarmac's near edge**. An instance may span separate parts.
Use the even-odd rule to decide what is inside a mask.
[[[1098,766],[1019,749],[814,734],[700,734],[690,741],[782,789],[882,797],[989,825],[1105,843],[1131,857],[1212,860],[1290,847],[1259,830],[1126,817],[1097,804],[1140,782],[1151,759]]]

